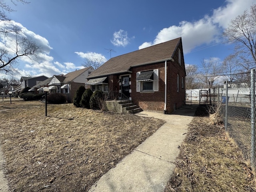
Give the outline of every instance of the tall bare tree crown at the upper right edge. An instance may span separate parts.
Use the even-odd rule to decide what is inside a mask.
[[[241,66],[248,72],[256,67],[256,4],[252,5],[250,12],[231,20],[228,28],[223,33],[228,41],[236,44],[234,55],[243,62]]]

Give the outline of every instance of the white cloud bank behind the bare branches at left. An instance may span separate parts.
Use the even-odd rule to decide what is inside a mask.
[[[26,37],[36,42],[36,44],[40,46],[40,52],[36,56],[33,56],[32,59],[26,56],[19,59],[19,65],[15,65],[15,68],[20,74],[17,74],[16,78],[19,79],[20,76],[31,75],[45,75],[51,77],[53,74],[66,74],[68,72],[74,71],[74,69],[84,68],[83,66],[77,67],[71,62],[65,62],[64,64],[61,64],[60,62],[53,62],[54,58],[49,55],[52,47],[50,47],[46,38],[28,30],[20,23],[14,21],[10,21],[10,23],[4,21],[0,22],[0,27],[11,28],[12,26],[16,26],[20,29],[19,35],[21,37]],[[15,50],[16,44],[11,40],[11,38],[3,36],[2,33],[0,33],[0,46],[4,46],[9,51],[13,52],[13,50]],[[20,70],[17,66],[22,68],[22,70]]]

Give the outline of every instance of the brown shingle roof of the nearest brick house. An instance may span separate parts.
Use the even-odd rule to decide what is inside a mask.
[[[113,57],[94,72],[92,72],[88,78],[125,72],[134,65],[171,58],[180,41],[181,37],[144,49],[136,50],[124,55]]]

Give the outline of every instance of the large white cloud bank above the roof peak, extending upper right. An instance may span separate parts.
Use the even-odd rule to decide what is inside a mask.
[[[194,21],[182,21],[179,26],[170,26],[158,32],[153,42],[144,42],[139,49],[182,37],[184,53],[188,53],[196,46],[219,42],[219,37],[229,22],[244,10],[250,9],[254,0],[227,0],[226,6],[213,11],[212,16]]]

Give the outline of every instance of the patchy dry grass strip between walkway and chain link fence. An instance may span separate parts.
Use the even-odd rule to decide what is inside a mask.
[[[200,107],[180,148],[165,192],[254,192],[254,174],[222,125]]]

